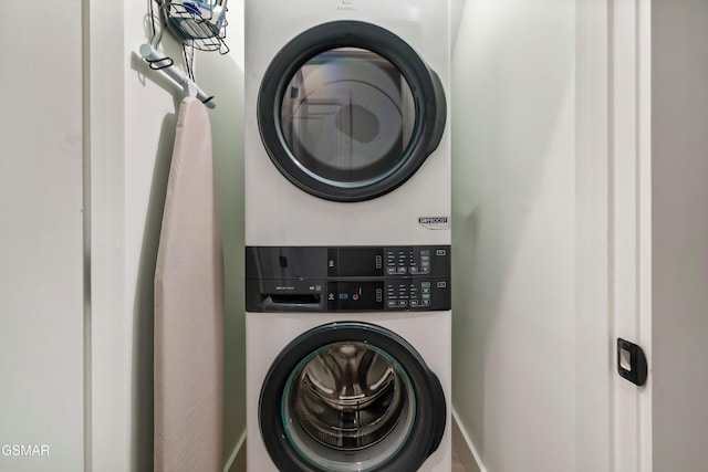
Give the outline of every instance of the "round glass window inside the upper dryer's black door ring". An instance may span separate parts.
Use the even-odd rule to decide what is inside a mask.
[[[320,53],[288,84],[283,139],[314,179],[362,186],[395,172],[410,143],[415,102],[400,72],[355,48]]]

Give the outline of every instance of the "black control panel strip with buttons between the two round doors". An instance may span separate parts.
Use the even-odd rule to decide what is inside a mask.
[[[250,312],[450,310],[450,247],[249,247]]]

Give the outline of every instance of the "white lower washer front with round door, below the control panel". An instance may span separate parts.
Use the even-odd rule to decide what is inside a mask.
[[[355,322],[351,322],[355,318]],[[346,323],[350,322],[350,323]],[[449,472],[451,469],[451,450],[450,450],[450,409],[449,399],[451,395],[450,384],[450,312],[426,312],[426,313],[407,313],[399,314],[331,314],[331,313],[300,313],[298,316],[284,313],[248,313],[247,318],[247,422],[248,422],[248,440],[247,440],[247,460],[250,472],[275,472],[282,471],[424,471],[424,472]],[[371,326],[374,326],[373,328]],[[429,392],[421,392],[429,385],[439,381],[441,392],[445,396],[441,409],[438,403],[433,408],[427,401],[427,406],[423,409],[415,408],[415,403],[408,402],[409,397],[400,397],[403,403],[400,406],[402,420],[394,428],[388,428],[392,432],[378,443],[366,449],[350,448],[344,451],[346,444],[340,443],[340,449],[332,447],[323,447],[317,441],[311,439],[309,431],[298,427],[298,422],[302,417],[298,417],[296,407],[290,410],[288,399],[293,398],[293,391],[298,391],[304,397],[304,402],[309,403],[313,399],[315,402],[322,402],[319,411],[321,418],[315,418],[310,429],[319,430],[317,421],[327,420],[324,411],[326,403],[317,397],[319,391],[326,390],[326,380],[333,380],[332,370],[322,363],[322,357],[329,357],[330,361],[333,357],[339,364],[345,365],[346,359],[353,359],[362,353],[356,353],[347,348],[335,349],[335,353],[320,353],[314,357],[314,361],[303,368],[302,359],[313,357],[314,352],[321,346],[333,344],[333,339],[337,339],[337,333],[343,331],[358,329],[365,333],[367,345],[372,349],[376,349],[378,354],[376,360],[372,361],[372,368],[368,370],[369,376],[376,375],[377,378],[385,381],[400,382],[402,385],[413,385],[416,395],[429,398]],[[372,329],[381,329],[387,335],[372,336]],[[352,337],[346,334],[342,335],[350,339],[348,346],[352,346]],[[339,338],[342,338],[340,336]],[[356,338],[356,336],[354,336]],[[406,348],[402,348],[399,340],[403,339],[408,347],[413,347],[415,353],[412,355],[402,354]],[[362,346],[360,344],[358,346]],[[407,347],[407,348],[408,348]],[[373,352],[373,350],[372,350]],[[386,358],[386,354],[391,356]],[[396,364],[391,359],[397,359]],[[423,361],[424,367],[414,364]],[[382,366],[393,366],[386,375]],[[295,367],[294,374],[285,376]],[[329,369],[329,370],[327,370]],[[304,375],[303,375],[304,370]],[[329,373],[324,375],[323,373]],[[396,371],[407,371],[407,379],[394,379],[398,374]],[[436,378],[426,378],[426,373],[435,374]],[[324,379],[323,382],[315,387],[308,384],[308,376]],[[412,377],[415,376],[415,379]],[[302,382],[302,379],[305,379]],[[270,389],[271,395],[263,396],[263,386]],[[304,384],[301,387],[301,382]],[[280,394],[280,389],[289,385],[290,392]],[[352,382],[355,386],[356,382]],[[291,388],[293,387],[294,388]],[[377,389],[384,391],[384,388],[376,386]],[[408,391],[408,387],[403,387],[404,392]],[[267,390],[268,391],[268,390]],[[288,390],[287,390],[288,391]],[[392,389],[392,391],[394,391]],[[309,394],[309,397],[303,394]],[[391,392],[385,392],[389,395]],[[391,403],[394,400],[387,399],[384,395],[379,396],[378,401],[383,405],[386,401]],[[435,400],[435,401],[440,401]],[[282,405],[284,402],[284,405]],[[298,403],[299,401],[295,401]],[[290,405],[289,405],[290,403]],[[373,406],[371,409],[376,410],[381,406]],[[394,410],[393,407],[388,409]],[[281,417],[284,411],[285,420]],[[420,423],[407,438],[405,438],[406,428],[409,426],[408,418],[410,416],[421,416],[427,418]],[[344,413],[341,415],[344,417]],[[389,417],[391,418],[391,417]],[[341,419],[341,418],[340,418]],[[430,426],[430,421],[434,424]],[[354,421],[354,419],[352,419]],[[361,419],[366,421],[365,418]],[[261,431],[261,422],[266,423],[266,436],[273,434],[272,440],[263,440]],[[287,424],[287,427],[283,427]],[[294,424],[294,427],[293,427]],[[341,428],[342,422],[337,423]],[[429,427],[429,428],[427,428]],[[287,429],[290,428],[290,431]],[[375,428],[373,433],[377,431]],[[384,430],[381,428],[381,430]],[[436,430],[437,429],[437,430]],[[385,432],[385,431],[384,431]],[[279,434],[277,438],[275,436]],[[436,437],[430,438],[430,434]],[[403,438],[403,439],[402,439]],[[332,436],[327,434],[324,441],[331,441]],[[346,441],[355,441],[355,438],[345,438]],[[365,439],[366,440],[366,439]],[[404,444],[407,441],[407,444]],[[433,453],[430,452],[431,442],[439,442]],[[310,454],[312,462],[302,459],[294,451],[291,444],[296,444],[303,454]],[[398,451],[395,448],[400,448]],[[324,452],[320,452],[324,451]],[[275,458],[275,459],[273,459]],[[278,461],[278,465],[273,461]],[[381,461],[388,462],[381,463]],[[423,463],[420,463],[423,461]],[[280,469],[279,469],[280,466]]]

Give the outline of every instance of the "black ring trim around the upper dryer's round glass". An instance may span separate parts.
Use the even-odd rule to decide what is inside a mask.
[[[416,105],[416,124],[410,144],[398,168],[379,180],[361,186],[337,186],[319,180],[295,161],[280,123],[280,108],[294,73],[315,55],[337,48],[361,48],[379,54],[405,76]],[[258,125],[273,164],[302,190],[334,201],[362,201],[385,195],[408,180],[440,143],[447,117],[445,91],[437,74],[396,34],[361,21],[334,21],[316,25],[295,36],[270,63],[259,91]]]

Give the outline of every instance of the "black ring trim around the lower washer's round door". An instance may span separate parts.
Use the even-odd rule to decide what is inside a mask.
[[[293,339],[273,361],[259,403],[261,436],[272,461],[281,471],[327,472],[302,458],[288,440],[281,418],[281,402],[288,378],[312,352],[340,342],[363,342],[385,350],[406,370],[416,396],[416,417],[406,443],[396,455],[371,472],[416,471],[440,445],[447,407],[437,376],[403,337],[369,323],[331,323]]]

